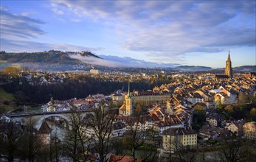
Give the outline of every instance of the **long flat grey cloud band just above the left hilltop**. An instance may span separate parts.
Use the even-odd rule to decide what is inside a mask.
[[[30,47],[30,48],[28,48]],[[80,51],[98,51],[103,48],[95,47],[83,47],[75,46],[72,44],[52,44],[52,43],[38,43],[34,41],[27,40],[9,40],[1,39],[0,51],[6,52],[38,52],[38,51],[49,51],[51,49],[59,51],[69,51],[69,52],[80,52]]]

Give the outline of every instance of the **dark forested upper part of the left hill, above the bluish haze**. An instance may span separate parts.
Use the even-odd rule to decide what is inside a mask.
[[[48,52],[21,52],[21,53],[0,53],[0,60],[7,63],[58,63],[74,65],[80,63],[80,60],[70,58],[70,54],[80,54],[87,57],[98,57],[91,52],[61,52],[50,50]]]

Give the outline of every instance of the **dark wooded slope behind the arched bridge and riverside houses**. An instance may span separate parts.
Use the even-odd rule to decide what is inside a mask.
[[[84,98],[89,94],[111,94],[118,89],[128,89],[128,82],[102,82],[95,78],[86,77],[84,82],[67,80],[55,85],[31,85],[22,77],[13,77],[9,84],[1,85],[5,91],[14,94],[17,105],[28,103],[46,103],[50,97],[54,99]],[[131,82],[131,89],[147,90],[155,86],[146,82]]]

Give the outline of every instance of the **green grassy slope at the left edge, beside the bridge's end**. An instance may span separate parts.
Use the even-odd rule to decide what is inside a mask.
[[[0,112],[7,112],[16,107],[14,102],[15,97],[13,94],[7,93],[0,86]],[[8,102],[9,104],[4,104],[4,102]]]

